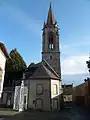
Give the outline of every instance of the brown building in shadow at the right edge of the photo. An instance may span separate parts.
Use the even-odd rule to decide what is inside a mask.
[[[73,102],[77,105],[90,106],[90,78],[73,88]]]

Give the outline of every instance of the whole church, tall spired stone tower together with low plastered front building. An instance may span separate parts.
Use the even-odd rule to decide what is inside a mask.
[[[21,87],[16,86],[13,109],[22,109],[23,106],[23,109],[60,110],[62,88],[59,27],[51,3],[42,31],[42,61],[28,66]]]

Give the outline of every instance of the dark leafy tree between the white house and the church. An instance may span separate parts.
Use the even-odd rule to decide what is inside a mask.
[[[26,63],[23,58],[17,51],[17,49],[11,50],[9,54],[10,58],[6,61],[5,68],[5,84],[11,85],[14,81],[20,81],[23,75],[23,72],[26,69]]]

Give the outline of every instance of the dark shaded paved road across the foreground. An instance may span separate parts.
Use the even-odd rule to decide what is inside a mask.
[[[86,108],[70,106],[60,112],[23,112],[14,116],[1,116],[0,120],[90,120]]]

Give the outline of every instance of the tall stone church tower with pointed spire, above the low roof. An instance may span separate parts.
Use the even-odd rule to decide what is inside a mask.
[[[48,11],[47,21],[44,21],[42,33],[42,60],[45,59],[49,65],[60,75],[60,50],[59,50],[59,28],[52,12],[52,6]]]

